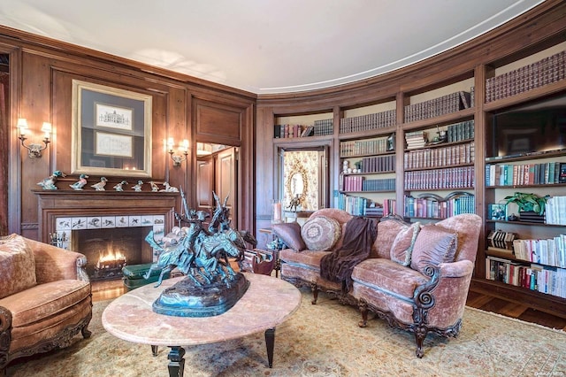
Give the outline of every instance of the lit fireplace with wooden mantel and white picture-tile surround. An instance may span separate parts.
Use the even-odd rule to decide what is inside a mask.
[[[42,242],[87,257],[91,280],[117,279],[121,267],[157,261],[156,250],[145,242],[156,240],[174,221],[179,193],[34,190],[39,198],[39,235]]]

